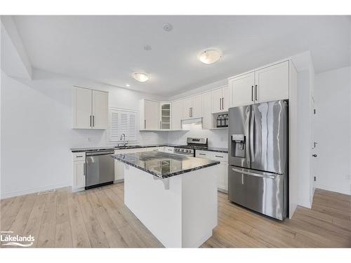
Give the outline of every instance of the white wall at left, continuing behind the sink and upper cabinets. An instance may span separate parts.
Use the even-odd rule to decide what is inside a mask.
[[[104,86],[40,70],[33,79],[1,72],[1,197],[72,185],[69,148],[105,146],[105,130],[72,129],[72,86],[110,92],[111,107],[138,109],[142,97],[162,97]],[[164,143],[164,133],[139,134],[142,144]]]

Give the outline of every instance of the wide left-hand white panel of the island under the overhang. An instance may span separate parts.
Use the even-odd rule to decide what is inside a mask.
[[[143,170],[124,168],[124,203],[166,248],[182,247],[182,182],[169,178],[169,189]]]

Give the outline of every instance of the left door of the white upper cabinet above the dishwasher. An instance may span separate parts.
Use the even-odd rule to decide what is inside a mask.
[[[73,128],[91,128],[91,90],[74,87],[73,100]]]

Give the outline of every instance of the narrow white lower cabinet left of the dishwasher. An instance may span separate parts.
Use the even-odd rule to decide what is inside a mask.
[[[86,153],[73,153],[72,191],[81,191],[86,187]]]

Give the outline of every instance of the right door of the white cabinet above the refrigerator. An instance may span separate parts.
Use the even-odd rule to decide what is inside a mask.
[[[289,61],[255,72],[255,102],[289,99]]]

